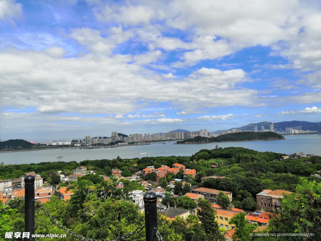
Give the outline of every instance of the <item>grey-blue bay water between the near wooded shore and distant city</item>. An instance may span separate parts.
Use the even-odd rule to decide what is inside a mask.
[[[124,146],[117,148],[100,149],[53,149],[24,152],[0,153],[0,162],[4,164],[29,164],[39,162],[56,161],[76,161],[113,159],[117,156],[121,158],[134,158],[143,156],[191,156],[200,149],[214,149],[219,147],[244,147],[256,151],[272,151],[284,154],[291,154],[298,151],[321,156],[321,134],[314,135],[291,135],[284,136],[285,140],[265,140],[265,141],[239,141],[239,142],[219,142],[204,144],[174,144],[175,141],[166,144],[154,143],[142,146]],[[146,155],[139,153],[147,152]],[[57,156],[63,158],[57,159]]]

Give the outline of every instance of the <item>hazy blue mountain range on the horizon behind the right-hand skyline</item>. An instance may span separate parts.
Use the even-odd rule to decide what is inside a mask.
[[[301,126],[302,130],[317,130],[317,124],[318,122],[308,122],[308,121],[282,121],[282,122],[274,122],[274,129],[282,129],[282,131],[285,131],[286,127],[291,126]],[[265,129],[270,129],[270,125],[272,122],[258,122],[258,123],[250,123],[246,126],[242,127],[234,127],[228,130],[237,129],[237,130],[251,130],[254,126],[257,126],[257,129],[261,129],[262,126],[264,126]],[[220,131],[223,130],[217,130],[213,131],[212,133],[217,134],[220,133]]]

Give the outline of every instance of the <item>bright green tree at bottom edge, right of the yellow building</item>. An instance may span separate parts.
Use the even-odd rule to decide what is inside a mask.
[[[252,238],[250,234],[257,228],[256,224],[248,224],[245,215],[244,212],[240,212],[229,221],[229,224],[235,224],[233,240],[249,241]]]

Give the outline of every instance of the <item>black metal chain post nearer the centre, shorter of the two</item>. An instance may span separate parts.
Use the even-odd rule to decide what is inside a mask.
[[[156,192],[146,192],[144,195],[145,203],[145,225],[146,241],[158,241],[157,230],[157,195]]]

